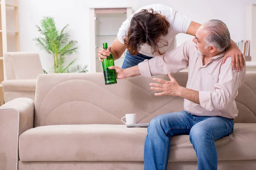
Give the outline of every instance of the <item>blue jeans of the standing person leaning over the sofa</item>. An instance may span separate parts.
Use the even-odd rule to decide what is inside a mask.
[[[131,55],[128,51],[126,52],[125,60],[122,65],[122,69],[130,68],[143,62],[145,59],[151,59],[153,57],[148,57],[143,54]]]

